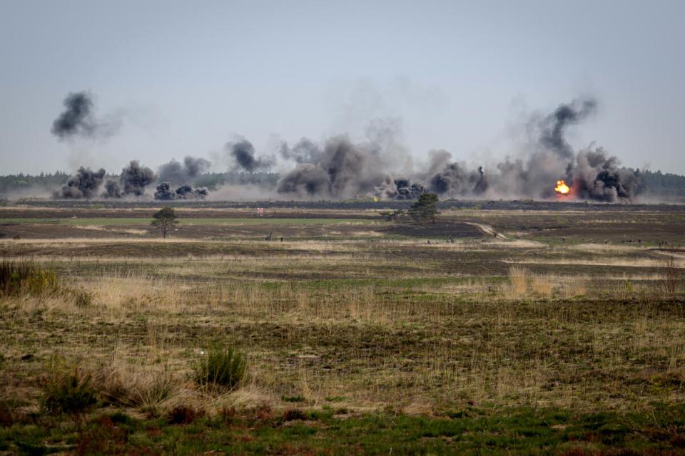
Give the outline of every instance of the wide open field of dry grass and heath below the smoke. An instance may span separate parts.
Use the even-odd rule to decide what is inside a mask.
[[[59,285],[0,296],[0,452],[685,452],[685,207],[498,204],[180,206],[168,239],[2,207],[0,255]],[[243,380],[198,382],[229,346]],[[60,372],[83,412],[46,407]]]

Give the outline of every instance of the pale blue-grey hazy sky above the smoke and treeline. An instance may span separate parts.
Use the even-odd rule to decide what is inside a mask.
[[[211,159],[236,135],[273,152],[375,118],[416,160],[479,162],[586,96],[574,147],[685,174],[683,19],[681,0],[0,0],[0,174]],[[116,135],[51,134],[80,90]]]

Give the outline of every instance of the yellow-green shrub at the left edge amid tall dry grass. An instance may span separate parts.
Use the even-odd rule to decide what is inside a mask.
[[[54,271],[29,261],[3,260],[0,263],[0,296],[42,295],[58,289]]]

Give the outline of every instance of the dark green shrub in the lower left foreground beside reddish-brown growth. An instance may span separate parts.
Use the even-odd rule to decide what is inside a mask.
[[[78,418],[97,403],[96,392],[91,388],[91,375],[77,367],[54,363],[41,387],[41,405],[47,413],[68,413]]]

